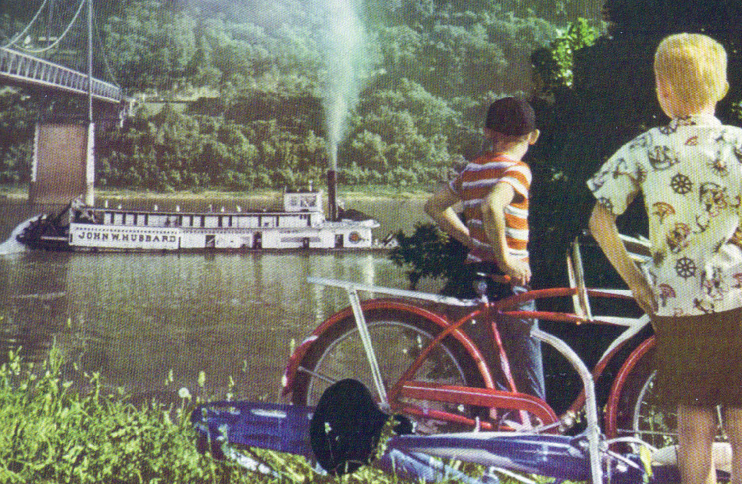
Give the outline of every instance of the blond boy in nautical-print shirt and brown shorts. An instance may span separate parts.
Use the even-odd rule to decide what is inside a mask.
[[[742,129],[715,108],[729,88],[726,53],[708,36],[679,33],[654,57],[668,125],[634,138],[597,171],[590,229],[657,337],[657,388],[677,405],[684,484],[715,483],[715,407],[742,483]],[[652,260],[641,271],[620,242],[616,217],[641,192]]]

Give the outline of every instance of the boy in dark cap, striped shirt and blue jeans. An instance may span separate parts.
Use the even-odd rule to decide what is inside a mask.
[[[528,263],[531,169],[522,162],[522,157],[538,140],[539,130],[531,105],[507,97],[490,105],[484,132],[490,150],[468,163],[454,180],[433,194],[425,212],[469,249],[465,270],[472,281],[481,274],[510,277],[510,284],[497,283],[492,278],[487,281],[490,295],[504,298],[525,292],[531,281]],[[453,211],[459,202],[463,203],[466,223]],[[519,309],[535,310],[535,304],[528,301]],[[530,336],[531,327],[536,327],[537,321],[499,318],[497,323],[516,389],[544,399],[541,346]],[[493,344],[487,326],[473,324],[466,331],[484,350],[490,367],[496,367],[498,360],[490,350]]]

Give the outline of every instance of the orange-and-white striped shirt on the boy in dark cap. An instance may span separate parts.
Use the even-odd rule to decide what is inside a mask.
[[[450,188],[462,200],[464,217],[476,248],[469,252],[467,263],[495,262],[494,249],[482,222],[482,200],[497,183],[508,183],[515,190],[513,201],[505,207],[505,241],[508,253],[528,259],[528,190],[531,169],[522,161],[502,154],[487,152],[467,164]]]

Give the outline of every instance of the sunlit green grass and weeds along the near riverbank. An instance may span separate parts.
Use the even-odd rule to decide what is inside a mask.
[[[180,405],[151,402],[138,408],[121,388],[104,390],[99,373],[85,374],[86,390],[72,390],[73,382],[62,378],[64,364],[56,349],[40,364],[24,362],[11,350],[0,366],[1,483],[409,482],[372,466],[344,477],[321,475],[303,457],[255,448],[242,450],[280,470],[280,477],[246,471],[197,451],[189,419],[199,402],[188,390],[179,391]],[[476,465],[452,465],[473,475],[482,472]]]

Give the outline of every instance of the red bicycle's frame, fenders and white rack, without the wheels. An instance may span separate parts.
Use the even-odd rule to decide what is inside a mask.
[[[630,239],[630,241],[636,241],[636,239]],[[641,242],[639,241],[638,243]],[[487,367],[485,360],[482,358],[482,353],[479,350],[479,347],[473,343],[461,328],[464,324],[474,318],[485,319],[486,321],[496,321],[498,315],[509,315],[515,318],[538,318],[548,321],[564,321],[573,324],[589,322],[592,324],[618,324],[626,326],[627,329],[613,341],[607,350],[605,350],[603,356],[591,370],[592,379],[597,379],[603,373],[605,368],[608,367],[611,359],[613,359],[614,356],[616,356],[616,354],[624,347],[626,342],[646,326],[649,322],[649,318],[647,316],[641,318],[621,318],[608,315],[593,315],[589,303],[590,298],[619,298],[630,300],[631,294],[628,290],[590,289],[585,287],[579,244],[576,242],[573,247],[573,252],[571,255],[568,255],[568,272],[572,283],[571,287],[532,290],[520,295],[513,295],[509,298],[492,302],[461,301],[456,298],[446,298],[439,295],[426,295],[419,292],[381,288],[343,281],[332,281],[323,278],[309,278],[310,282],[332,285],[335,287],[344,287],[349,292],[352,304],[351,307],[332,315],[324,321],[312,332],[312,335],[303,341],[303,343],[295,350],[289,359],[288,366],[286,367],[286,373],[283,379],[283,394],[286,395],[292,391],[296,373],[299,370],[301,361],[306,355],[306,352],[310,347],[312,347],[312,344],[315,343],[318,337],[326,333],[326,331],[332,328],[335,324],[338,324],[339,321],[343,321],[346,318],[353,317],[355,318],[360,331],[361,327],[365,327],[363,321],[364,313],[372,310],[394,310],[403,315],[409,314],[419,318],[424,318],[439,327],[440,331],[436,334],[433,341],[430,341],[430,343],[427,344],[427,347],[424,347],[413,363],[404,370],[401,377],[389,388],[388,394],[380,395],[382,404],[389,405],[393,411],[402,411],[404,413],[419,416],[430,416],[436,419],[447,420],[449,422],[459,422],[471,425],[472,427],[479,426],[484,429],[492,429],[492,423],[486,421],[475,421],[466,416],[446,411],[419,408],[414,405],[401,403],[401,399],[452,402],[476,407],[525,411],[537,416],[545,425],[545,428],[548,428],[548,431],[557,432],[563,430],[563,428],[568,428],[571,425],[571,422],[574,422],[574,416],[576,413],[585,406],[585,390],[583,390],[577,399],[575,399],[570,408],[568,408],[568,411],[559,417],[557,417],[551,407],[541,399],[524,393],[518,393],[513,384],[512,376],[510,375],[508,358],[502,349],[501,342],[499,341],[496,324],[492,324],[495,349],[499,354],[503,373],[507,377],[510,386],[510,391],[497,390],[496,384],[490,375],[490,370]],[[638,257],[640,256],[637,256],[637,258]],[[452,321],[447,315],[404,300],[371,299],[361,302],[360,299],[358,299],[358,290],[382,293],[386,292],[387,294],[397,295],[403,298],[416,298],[459,307],[473,307],[473,309],[462,318]],[[510,308],[516,307],[525,301],[564,297],[572,298],[574,302],[574,313],[510,310]],[[470,354],[482,376],[484,387],[443,385],[432,382],[418,382],[412,379],[416,371],[421,367],[425,359],[427,359],[430,352],[439,345],[440,341],[449,335],[459,341],[464,349],[467,350],[467,353]],[[647,351],[651,350],[651,347],[653,347],[653,341],[654,339],[652,338],[645,341],[643,344],[640,344],[640,347],[637,347],[637,349],[631,353],[631,356],[629,356],[627,361],[623,364],[614,380],[610,396],[608,397],[608,413],[606,413],[605,431],[609,438],[615,437],[617,433],[614,421],[619,405],[618,395],[623,387],[623,383],[626,382],[626,376],[631,372],[638,359],[646,354]],[[381,382],[378,382],[378,386],[383,385],[381,385]]]

